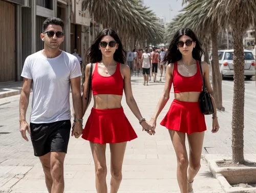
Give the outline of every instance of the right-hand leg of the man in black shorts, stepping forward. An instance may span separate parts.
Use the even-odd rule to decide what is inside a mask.
[[[64,192],[64,159],[66,153],[64,152],[51,152],[51,176],[52,176],[52,189],[51,193]]]

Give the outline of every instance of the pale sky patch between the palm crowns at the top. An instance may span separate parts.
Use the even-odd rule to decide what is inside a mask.
[[[182,9],[182,0],[143,0],[144,4],[151,8],[157,16],[165,16],[166,22],[172,20]],[[169,11],[169,7],[172,11]]]

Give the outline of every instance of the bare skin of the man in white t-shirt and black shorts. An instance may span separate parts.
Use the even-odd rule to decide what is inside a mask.
[[[62,28],[57,25],[49,25],[46,31],[62,32]],[[64,36],[62,38],[57,38],[56,34],[54,34],[53,37],[48,37],[46,33],[41,33],[40,37],[41,40],[44,41],[44,50],[41,52],[45,57],[54,58],[61,53],[59,46],[64,40]],[[19,131],[26,141],[28,141],[26,131],[29,135],[31,134],[29,124],[26,121],[26,112],[29,104],[32,82],[32,79],[24,78],[19,101]],[[77,118],[82,118],[80,77],[72,78],[70,79],[70,82],[74,110]],[[82,124],[80,122],[73,127],[72,136],[80,136],[81,132]],[[50,193],[62,193],[64,191],[63,162],[65,160],[65,156],[66,153],[63,152],[50,152],[39,157],[45,173],[46,186]]]

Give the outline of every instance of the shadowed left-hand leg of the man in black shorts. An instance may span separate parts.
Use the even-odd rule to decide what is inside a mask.
[[[46,186],[47,189],[49,191],[49,193],[51,193],[51,189],[52,189],[52,176],[51,176],[51,162],[50,162],[50,153],[44,155],[44,156],[40,156],[39,157],[41,164],[42,164],[42,169],[44,170],[45,173],[45,179],[46,179]]]

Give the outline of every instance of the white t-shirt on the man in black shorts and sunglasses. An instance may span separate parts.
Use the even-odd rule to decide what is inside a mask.
[[[41,51],[28,56],[22,76],[33,79],[30,122],[70,120],[70,79],[81,75],[78,59],[67,52],[55,58],[46,58]]]

